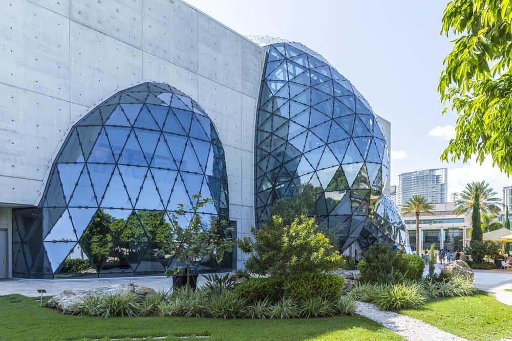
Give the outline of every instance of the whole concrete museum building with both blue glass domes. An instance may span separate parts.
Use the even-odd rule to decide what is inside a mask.
[[[204,228],[243,238],[309,188],[340,251],[410,252],[385,194],[390,123],[303,44],[179,0],[23,0],[0,19],[0,278],[161,276],[179,262],[154,250],[198,193]]]

